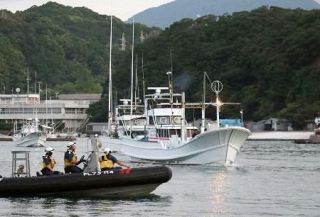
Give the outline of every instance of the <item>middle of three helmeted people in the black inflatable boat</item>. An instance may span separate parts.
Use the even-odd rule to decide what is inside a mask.
[[[81,173],[83,170],[78,167],[83,160],[79,160],[76,154],[76,143],[69,142],[68,150],[64,153],[64,172],[65,173]]]

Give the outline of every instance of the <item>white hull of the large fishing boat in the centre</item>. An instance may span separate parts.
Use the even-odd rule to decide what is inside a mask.
[[[243,127],[206,131],[175,147],[160,142],[123,140],[121,152],[135,159],[166,164],[232,164],[251,132]]]

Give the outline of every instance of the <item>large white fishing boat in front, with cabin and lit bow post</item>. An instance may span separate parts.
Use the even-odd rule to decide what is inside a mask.
[[[199,133],[185,119],[186,107],[203,108],[204,119],[205,106],[214,105],[217,126],[220,126],[219,109],[223,104],[218,100],[218,94],[215,103],[197,104],[186,103],[184,93],[173,93],[170,84],[169,88],[148,89],[155,90],[155,93],[145,96],[146,135],[141,140],[120,139],[121,153],[159,163],[229,165],[235,162],[241,146],[251,134],[250,130],[242,126],[226,126],[205,131],[203,122]],[[168,89],[169,92],[161,92]]]

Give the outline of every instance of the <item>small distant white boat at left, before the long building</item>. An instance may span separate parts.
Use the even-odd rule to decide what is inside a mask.
[[[37,119],[28,119],[20,130],[16,130],[13,135],[13,141],[17,146],[24,147],[42,147],[47,139],[47,134],[39,128]]]

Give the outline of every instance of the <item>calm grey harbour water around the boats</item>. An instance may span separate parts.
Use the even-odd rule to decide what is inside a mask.
[[[87,143],[78,142],[78,155]],[[66,144],[47,142],[61,171]],[[19,149],[10,142],[0,147],[0,174],[9,176],[11,150]],[[28,150],[35,174],[44,149]],[[170,167],[172,179],[144,198],[0,198],[0,216],[320,216],[320,145],[249,141],[233,167]]]

